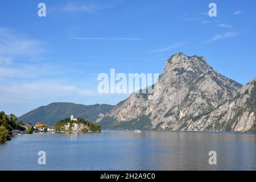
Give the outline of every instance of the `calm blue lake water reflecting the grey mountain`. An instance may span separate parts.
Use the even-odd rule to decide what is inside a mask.
[[[46,165],[38,152],[46,151]],[[209,165],[209,151],[217,165]],[[34,133],[0,144],[0,170],[255,170],[256,134]]]

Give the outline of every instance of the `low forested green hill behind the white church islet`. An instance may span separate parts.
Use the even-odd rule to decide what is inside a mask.
[[[80,117],[95,122],[100,113],[106,113],[113,108],[112,105],[96,104],[96,105],[81,105],[67,102],[54,102],[47,106],[38,107],[18,119],[24,123],[36,122],[48,123],[53,125],[61,119],[69,118],[72,114],[74,117]]]

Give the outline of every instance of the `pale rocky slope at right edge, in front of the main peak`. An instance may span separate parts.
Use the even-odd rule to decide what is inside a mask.
[[[253,80],[241,88],[237,97],[197,119],[187,130],[250,131],[256,124],[255,91],[256,80]]]

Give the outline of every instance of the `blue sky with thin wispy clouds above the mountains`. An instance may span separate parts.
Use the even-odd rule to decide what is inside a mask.
[[[46,17],[38,3],[46,3]],[[217,17],[208,5],[217,5]],[[97,75],[162,73],[176,52],[205,56],[222,75],[255,77],[255,1],[0,1],[0,110],[51,102],[117,104]]]

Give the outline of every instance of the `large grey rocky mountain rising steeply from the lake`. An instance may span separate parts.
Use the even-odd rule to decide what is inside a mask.
[[[133,93],[97,119],[114,129],[251,131],[256,80],[242,86],[210,67],[204,57],[176,53],[159,76],[159,91]]]

